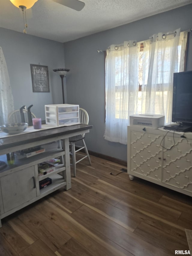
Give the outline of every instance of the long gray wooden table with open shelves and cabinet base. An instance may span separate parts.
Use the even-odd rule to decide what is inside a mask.
[[[18,150],[63,141],[63,148],[43,152],[29,158],[17,160],[15,163],[0,170],[0,227],[1,219],[38,199],[64,187],[71,188],[69,137],[89,132],[92,125],[71,125],[51,127],[42,125],[42,129],[28,128],[17,135],[7,135],[0,132],[0,160],[7,162],[6,154]],[[28,132],[29,130],[29,132]],[[38,164],[51,158],[61,157],[61,164],[55,171],[44,176],[38,175]],[[49,177],[52,184],[39,189],[39,181]]]

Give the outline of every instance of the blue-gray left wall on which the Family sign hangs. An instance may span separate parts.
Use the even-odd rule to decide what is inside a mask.
[[[14,107],[33,104],[31,111],[45,120],[45,104],[62,103],[61,78],[52,71],[64,67],[62,43],[0,28],[0,46],[7,63]],[[48,66],[50,92],[33,92],[30,64]]]

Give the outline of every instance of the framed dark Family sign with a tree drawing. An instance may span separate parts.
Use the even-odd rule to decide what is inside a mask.
[[[49,92],[49,72],[47,66],[31,65],[33,92]]]

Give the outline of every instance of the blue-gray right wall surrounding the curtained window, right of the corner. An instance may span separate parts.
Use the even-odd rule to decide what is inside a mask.
[[[124,26],[90,35],[64,44],[67,76],[67,103],[79,104],[88,111],[93,125],[85,140],[89,150],[127,160],[127,146],[104,140],[105,129],[105,63],[104,53],[111,44],[127,40],[143,41],[157,32],[192,28],[192,5],[145,18]],[[192,42],[187,69],[192,70]]]

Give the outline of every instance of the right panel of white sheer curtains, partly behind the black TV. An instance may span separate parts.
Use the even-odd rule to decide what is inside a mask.
[[[184,71],[187,32],[158,33],[144,42],[141,113],[165,115],[171,123],[173,73]]]

